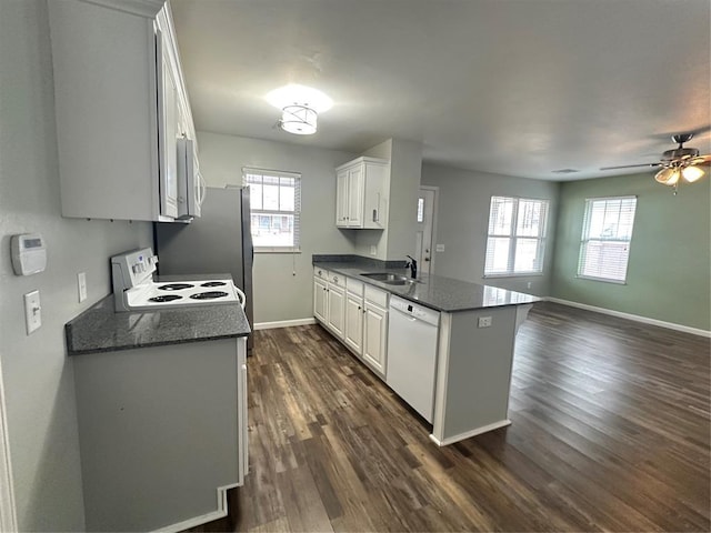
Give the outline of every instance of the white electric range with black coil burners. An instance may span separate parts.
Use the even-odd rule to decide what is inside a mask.
[[[239,303],[244,293],[231,280],[153,281],[158,257],[144,248],[111,258],[111,279],[117,311],[158,311],[186,305]]]

